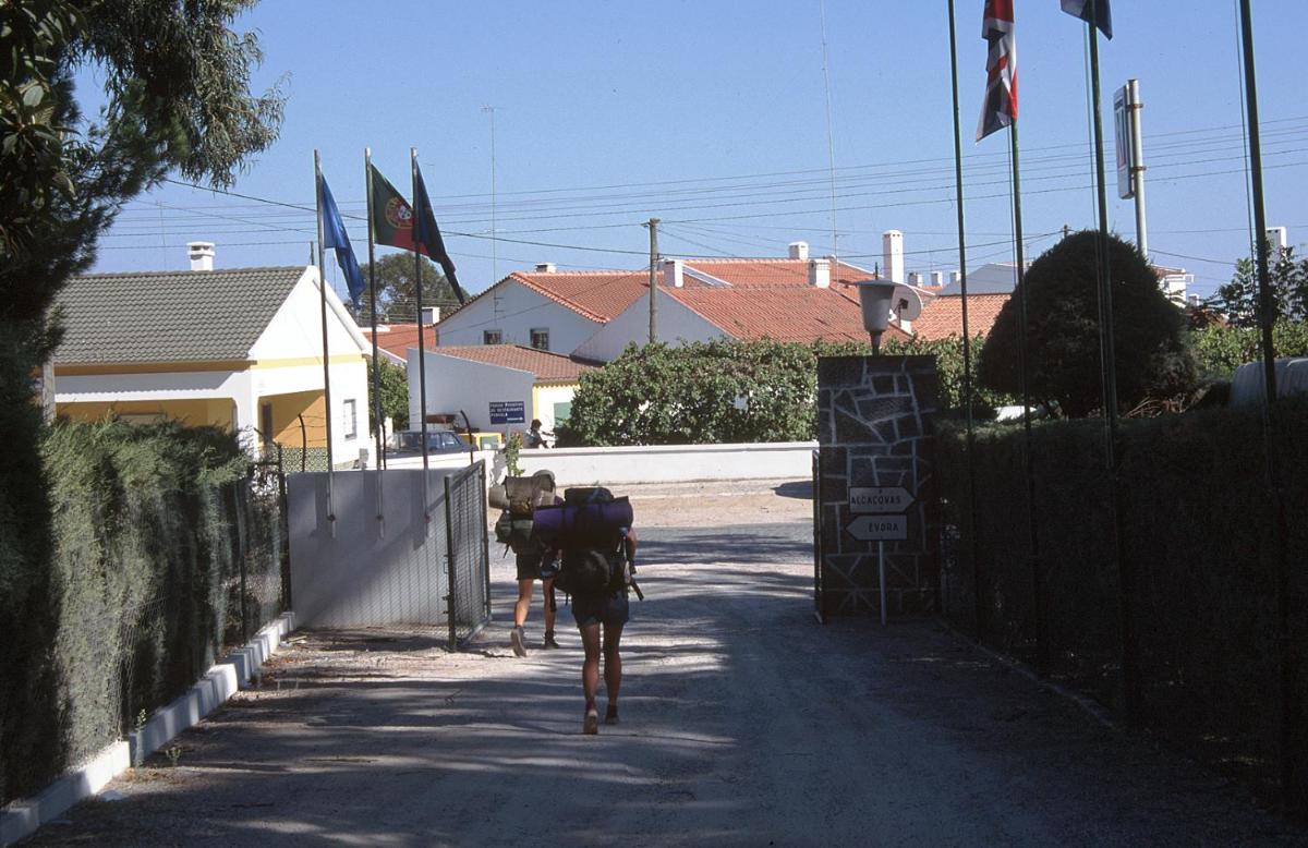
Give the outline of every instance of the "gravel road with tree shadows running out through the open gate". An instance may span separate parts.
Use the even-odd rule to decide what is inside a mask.
[[[496,557],[473,649],[297,637],[175,766],[153,758],[31,844],[1308,844],[933,622],[818,624],[806,483],[632,493],[647,599],[621,725],[581,735],[574,631],[509,652]]]

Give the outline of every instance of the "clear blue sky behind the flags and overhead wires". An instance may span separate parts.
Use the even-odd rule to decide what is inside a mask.
[[[972,137],[985,84],[981,0],[959,0],[969,263],[1011,259],[1007,139]],[[1211,293],[1248,253],[1235,0],[1113,4],[1100,42],[1105,143],[1112,93],[1141,80],[1150,247]],[[1253,4],[1267,221],[1308,242],[1303,0]],[[823,73],[823,13],[831,135]],[[1018,75],[1028,256],[1096,220],[1084,27],[1057,0],[1022,0]],[[264,0],[239,21],[266,51],[256,85],[286,75],[281,139],[232,191],[313,205],[313,150],[366,258],[364,148],[398,186],[416,147],[460,280],[638,267],[641,222],[666,255],[783,255],[806,239],[871,267],[905,233],[908,270],[957,267],[944,0],[494,4]],[[80,85],[94,98],[94,73]],[[494,107],[494,203],[490,113]],[[1131,202],[1110,224],[1134,239]],[[494,225],[492,226],[492,205]],[[497,236],[492,241],[492,230]],[[167,185],[133,202],[97,270],[303,263],[311,212]],[[511,239],[511,241],[510,241]],[[536,242],[536,243],[531,243]],[[386,249],[383,249],[386,250]],[[328,277],[340,274],[328,259]]]

